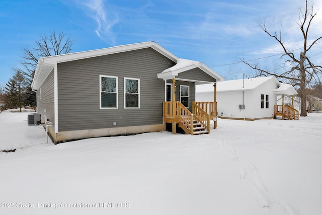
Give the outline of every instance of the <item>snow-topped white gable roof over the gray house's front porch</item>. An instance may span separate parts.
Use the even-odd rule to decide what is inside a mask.
[[[212,69],[210,69],[208,66],[203,64],[202,62],[199,61],[194,61],[194,60],[187,60],[187,59],[182,59],[179,58],[177,60],[177,64],[165,69],[162,73],[157,74],[157,78],[159,79],[174,79],[176,76],[179,75],[179,73],[182,73],[183,71],[188,71],[190,69],[194,68],[200,68],[203,70],[206,74],[209,76],[213,77],[217,81],[223,81],[224,78],[222,78],[220,75],[216,74]],[[199,83],[197,83],[199,84]]]

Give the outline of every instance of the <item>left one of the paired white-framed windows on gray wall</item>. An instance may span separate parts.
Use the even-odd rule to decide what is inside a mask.
[[[118,77],[100,76],[101,108],[118,108]]]

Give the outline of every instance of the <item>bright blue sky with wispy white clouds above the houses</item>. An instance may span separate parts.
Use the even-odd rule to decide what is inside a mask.
[[[311,39],[322,35],[321,6],[315,1],[315,11],[321,10]],[[12,77],[13,67],[20,67],[22,49],[35,47],[35,41],[53,31],[70,36],[72,52],[155,41],[179,58],[202,61],[226,80],[240,79],[253,72],[235,63],[240,58],[278,67],[283,51],[259,22],[266,20],[272,31],[282,23],[287,48],[301,48],[295,21],[303,7],[304,0],[2,0],[0,85]],[[320,50],[317,45],[310,52],[317,64]]]

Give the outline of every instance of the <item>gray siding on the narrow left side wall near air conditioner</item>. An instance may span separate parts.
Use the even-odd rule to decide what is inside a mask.
[[[54,121],[54,70],[50,72],[44,83],[38,90],[38,113],[41,114],[41,119],[45,121],[49,119],[50,122]]]

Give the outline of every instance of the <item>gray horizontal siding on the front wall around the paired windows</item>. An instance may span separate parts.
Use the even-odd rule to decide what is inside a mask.
[[[58,131],[161,124],[157,74],[174,64],[152,48],[58,63]],[[118,77],[118,109],[100,109],[100,75]],[[124,78],[140,79],[139,109],[124,109]]]

